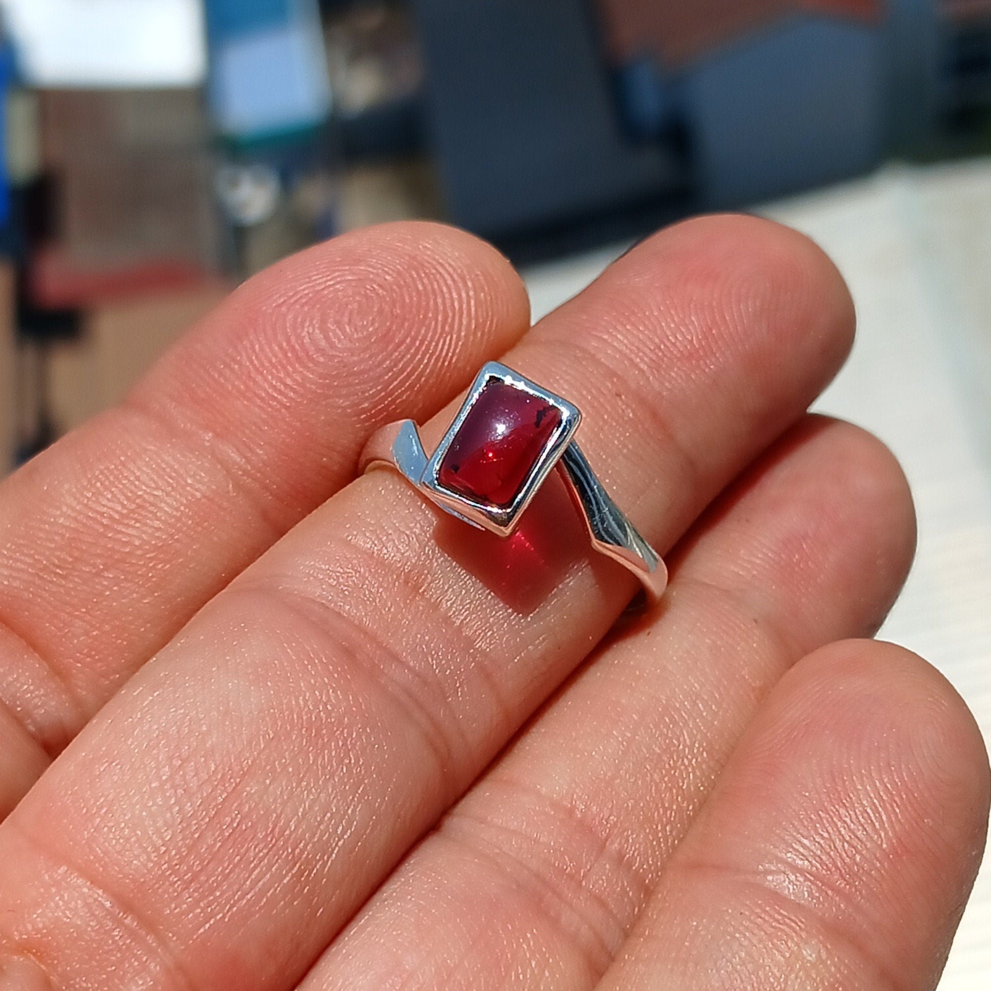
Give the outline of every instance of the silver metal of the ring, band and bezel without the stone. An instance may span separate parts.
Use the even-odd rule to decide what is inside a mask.
[[[535,458],[525,482],[508,505],[496,506],[452,491],[443,482],[444,458],[455,443],[476,402],[489,385],[509,385],[555,410],[559,425]],[[421,495],[442,509],[480,529],[508,536],[530,499],[554,468],[558,468],[575,506],[585,520],[592,546],[601,554],[632,572],[652,600],[667,587],[668,573],[660,555],[640,535],[626,515],[606,493],[588,459],[574,441],[581,422],[578,409],[535,385],[518,373],[495,362],[488,364],[476,379],[450,429],[437,450],[428,456],[419,430],[412,420],[390,423],[369,441],[362,454],[360,470],[387,467],[396,470]]]

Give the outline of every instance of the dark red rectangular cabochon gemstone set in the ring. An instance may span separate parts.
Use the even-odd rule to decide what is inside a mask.
[[[502,382],[486,385],[440,464],[445,488],[502,509],[511,505],[561,424],[561,410]]]

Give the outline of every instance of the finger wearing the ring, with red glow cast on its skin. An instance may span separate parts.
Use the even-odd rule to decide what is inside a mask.
[[[583,408],[583,447],[664,548],[826,384],[851,316],[805,239],[711,218],[506,362]],[[290,985],[628,599],[582,541],[559,486],[505,543],[391,475],[335,496],[0,826],[0,947],[57,987]]]

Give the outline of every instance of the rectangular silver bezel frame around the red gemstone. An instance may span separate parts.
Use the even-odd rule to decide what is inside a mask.
[[[519,491],[507,506],[495,506],[447,489],[441,484],[439,478],[441,464],[458,436],[458,431],[468,419],[486,386],[496,382],[526,392],[547,403],[547,405],[553,406],[561,414],[561,422],[534,459]],[[483,367],[477,376],[458,411],[458,415],[454,418],[454,422],[427,462],[420,479],[420,485],[439,505],[455,515],[490,530],[498,536],[509,536],[533,496],[536,495],[537,490],[540,489],[547,476],[561,460],[581,421],[582,413],[574,403],[530,382],[518,372],[513,372],[512,369],[506,368],[498,362],[490,362]]]

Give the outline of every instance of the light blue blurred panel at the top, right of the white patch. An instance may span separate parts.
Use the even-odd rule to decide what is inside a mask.
[[[316,0],[206,0],[209,99],[243,143],[318,129],[331,108]]]

